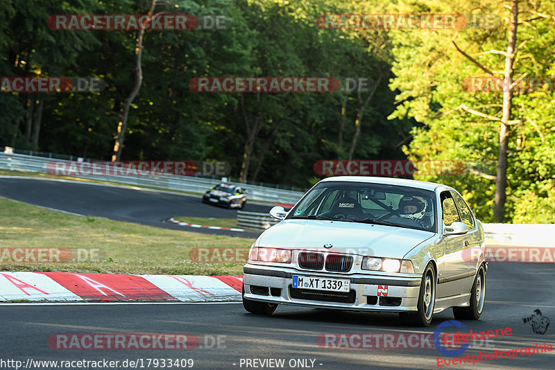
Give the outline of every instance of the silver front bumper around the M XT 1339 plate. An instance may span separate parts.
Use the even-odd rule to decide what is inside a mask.
[[[336,293],[293,288],[293,275],[348,279],[350,292]],[[244,297],[253,301],[339,310],[408,312],[417,310],[421,280],[421,276],[330,274],[248,263],[244,267],[243,282]],[[387,290],[386,295],[384,295],[384,288]]]

